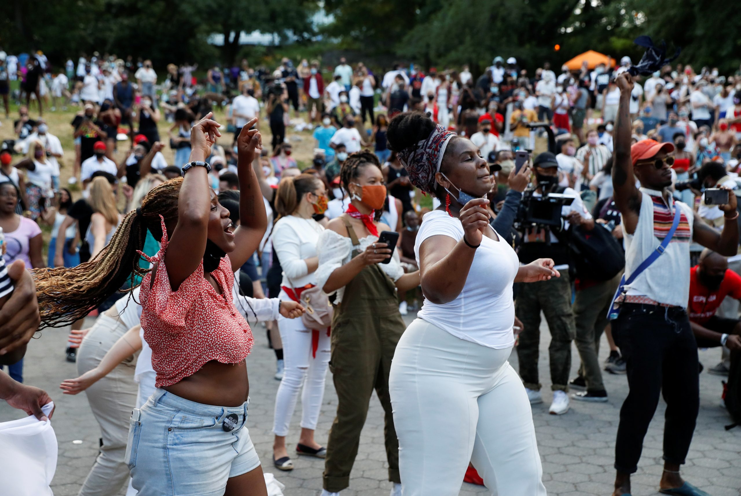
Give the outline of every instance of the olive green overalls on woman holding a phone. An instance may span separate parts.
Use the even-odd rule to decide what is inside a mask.
[[[358,237],[346,218],[352,256],[359,253]],[[340,492],[350,484],[358,454],[360,432],[376,389],[385,411],[384,437],[388,479],[399,478],[399,440],[393,428],[388,374],[396,343],[406,325],[399,314],[396,285],[377,265],[365,267],[345,286],[342,302],[334,306],[329,369],[337,391],[337,415],[327,443],[324,489]]]

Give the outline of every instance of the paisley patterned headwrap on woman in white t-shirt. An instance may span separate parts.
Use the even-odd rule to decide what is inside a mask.
[[[427,139],[399,152],[399,160],[407,170],[411,184],[426,193],[435,190],[435,173],[440,171],[445,147],[455,135],[437,124]]]

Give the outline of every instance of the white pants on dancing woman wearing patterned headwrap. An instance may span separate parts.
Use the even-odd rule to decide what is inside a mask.
[[[416,319],[389,390],[404,496],[455,496],[468,461],[492,495],[545,496],[528,395],[507,359]]]

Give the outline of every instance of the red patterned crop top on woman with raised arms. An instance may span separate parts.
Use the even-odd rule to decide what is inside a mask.
[[[211,272],[222,289],[219,295],[203,276],[203,261],[177,291],[170,286],[165,267],[167,231],[162,221],[162,248],[147,257],[159,262],[144,276],[140,293],[144,340],[152,349],[156,387],[171,386],[198,372],[204,363],[239,363],[250,354],[252,331],[232,301],[234,273],[228,255]]]

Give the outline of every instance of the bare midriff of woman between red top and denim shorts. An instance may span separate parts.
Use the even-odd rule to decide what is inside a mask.
[[[162,389],[205,405],[240,406],[250,394],[247,363],[208,361],[195,374]]]

